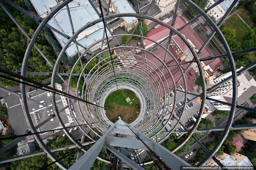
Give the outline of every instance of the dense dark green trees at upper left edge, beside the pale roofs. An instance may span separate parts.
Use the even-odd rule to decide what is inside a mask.
[[[29,2],[15,1],[16,4],[25,8]],[[9,8],[9,6],[8,6]],[[29,8],[29,7],[28,7]],[[38,23],[31,19],[30,17],[23,15],[16,9],[10,6],[10,11],[14,14],[16,20],[25,29],[25,31],[32,36],[34,30],[37,28]],[[3,9],[0,9],[0,60],[1,67],[4,67],[10,71],[20,70],[21,64],[23,62],[24,54],[28,45],[27,38],[23,33],[16,27],[12,20],[6,15]],[[55,59],[52,54],[51,49],[48,47],[47,40],[42,31],[36,41],[38,48],[42,51],[46,58],[54,65]],[[44,60],[44,58],[39,54],[39,52],[33,47],[31,56],[27,64],[27,71],[31,72],[51,72],[52,68]],[[43,80],[48,78],[48,76],[29,76],[29,78],[34,80]],[[11,80],[0,79],[1,85],[4,86],[18,86],[19,83],[14,83]]]

